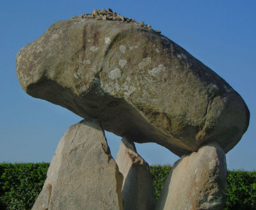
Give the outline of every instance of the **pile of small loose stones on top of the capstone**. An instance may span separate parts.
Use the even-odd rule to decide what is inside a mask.
[[[108,8],[108,11],[104,8],[102,10],[93,10],[90,14],[82,14],[79,16],[74,16],[72,19],[95,19],[95,20],[115,20],[115,21],[122,21],[122,22],[129,22],[135,24],[137,26],[143,27],[150,31],[155,31],[156,33],[161,33],[159,30],[153,30],[150,25],[145,24],[143,21],[140,23],[136,22],[134,19],[128,19],[123,15],[117,14],[115,11],[113,12],[111,9]]]

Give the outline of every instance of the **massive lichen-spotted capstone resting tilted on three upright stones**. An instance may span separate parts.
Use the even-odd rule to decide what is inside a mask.
[[[56,22],[19,51],[17,77],[35,98],[179,156],[211,140],[227,153],[248,127],[241,96],[147,26],[81,18]]]

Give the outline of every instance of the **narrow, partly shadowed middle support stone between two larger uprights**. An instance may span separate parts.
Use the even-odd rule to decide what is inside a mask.
[[[155,199],[148,163],[136,152],[134,143],[126,137],[120,144],[116,163],[124,176],[124,210],[153,210]]]

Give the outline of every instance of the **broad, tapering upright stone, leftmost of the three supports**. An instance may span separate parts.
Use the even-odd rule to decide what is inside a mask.
[[[33,210],[122,209],[123,176],[97,121],[81,121],[60,140]]]

